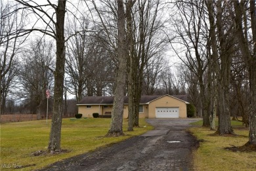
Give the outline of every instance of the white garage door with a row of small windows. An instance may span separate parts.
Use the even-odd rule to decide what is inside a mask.
[[[179,107],[156,107],[156,118],[179,118]]]

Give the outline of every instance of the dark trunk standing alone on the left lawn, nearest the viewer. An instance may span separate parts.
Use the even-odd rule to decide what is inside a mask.
[[[54,71],[53,118],[49,138],[48,151],[61,151],[60,135],[62,124],[62,103],[64,86],[65,38],[64,20],[66,0],[58,0],[56,11],[56,67]]]

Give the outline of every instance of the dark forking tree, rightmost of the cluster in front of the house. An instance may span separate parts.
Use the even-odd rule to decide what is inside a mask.
[[[135,3],[135,1],[133,1]],[[138,1],[139,7],[139,37],[137,39],[138,47],[134,56],[134,76],[133,76],[133,127],[139,127],[139,104],[142,94],[142,84],[144,81],[144,67],[150,60],[150,48],[152,48],[152,42],[154,34],[156,33],[156,27],[158,25],[158,7],[160,0],[158,1]],[[155,7],[154,12],[150,10]],[[149,87],[148,87],[149,89]],[[149,90],[147,91],[149,92]]]

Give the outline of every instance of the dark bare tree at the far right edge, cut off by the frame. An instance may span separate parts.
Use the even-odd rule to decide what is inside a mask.
[[[242,58],[249,74],[250,111],[249,141],[245,145],[256,146],[256,7],[255,1],[234,1],[234,26]],[[249,8],[248,8],[249,7]],[[248,9],[248,10],[247,10]],[[249,16],[249,20],[247,19]],[[248,34],[250,28],[251,36]]]

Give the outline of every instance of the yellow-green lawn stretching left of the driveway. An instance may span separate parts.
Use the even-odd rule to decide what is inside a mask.
[[[127,132],[125,131],[127,120],[123,120],[123,130],[126,136],[105,138],[104,135],[108,132],[109,126],[110,119],[63,119],[61,147],[70,152],[34,157],[33,152],[47,150],[51,120],[48,124],[43,120],[1,124],[0,170],[12,170],[20,166],[22,170],[35,170],[53,162],[95,150],[97,147],[143,134],[153,128],[144,119],[140,119],[142,128]]]

